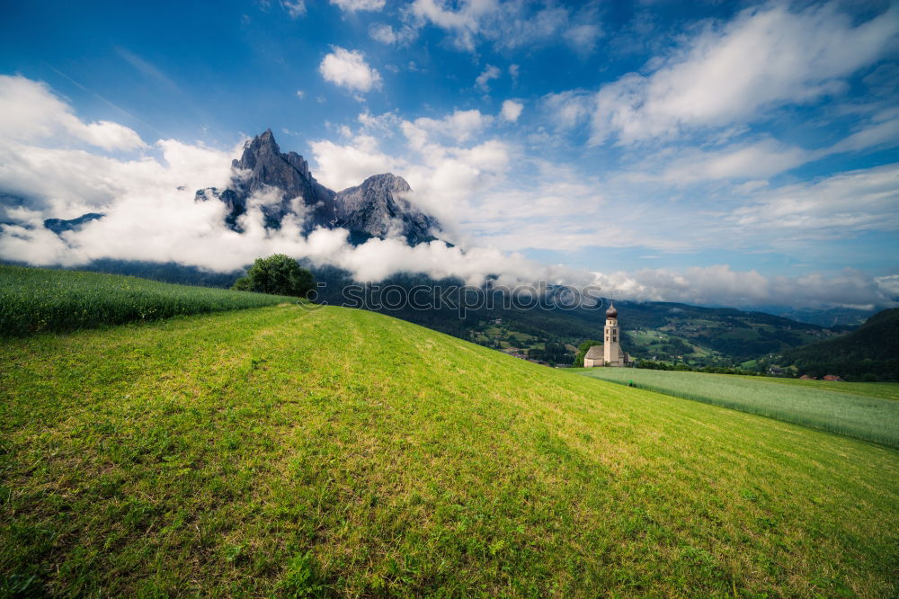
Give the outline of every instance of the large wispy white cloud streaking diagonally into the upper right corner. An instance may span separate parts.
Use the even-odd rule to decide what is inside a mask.
[[[899,9],[853,25],[836,4],[791,12],[784,4],[709,25],[678,52],[596,95],[592,142],[629,144],[760,118],[772,106],[811,103],[882,56],[899,32]]]

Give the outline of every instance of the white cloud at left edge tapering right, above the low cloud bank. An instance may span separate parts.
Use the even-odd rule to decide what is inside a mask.
[[[47,85],[22,76],[0,76],[0,139],[81,141],[104,150],[147,148],[137,132],[119,123],[81,121]]]

